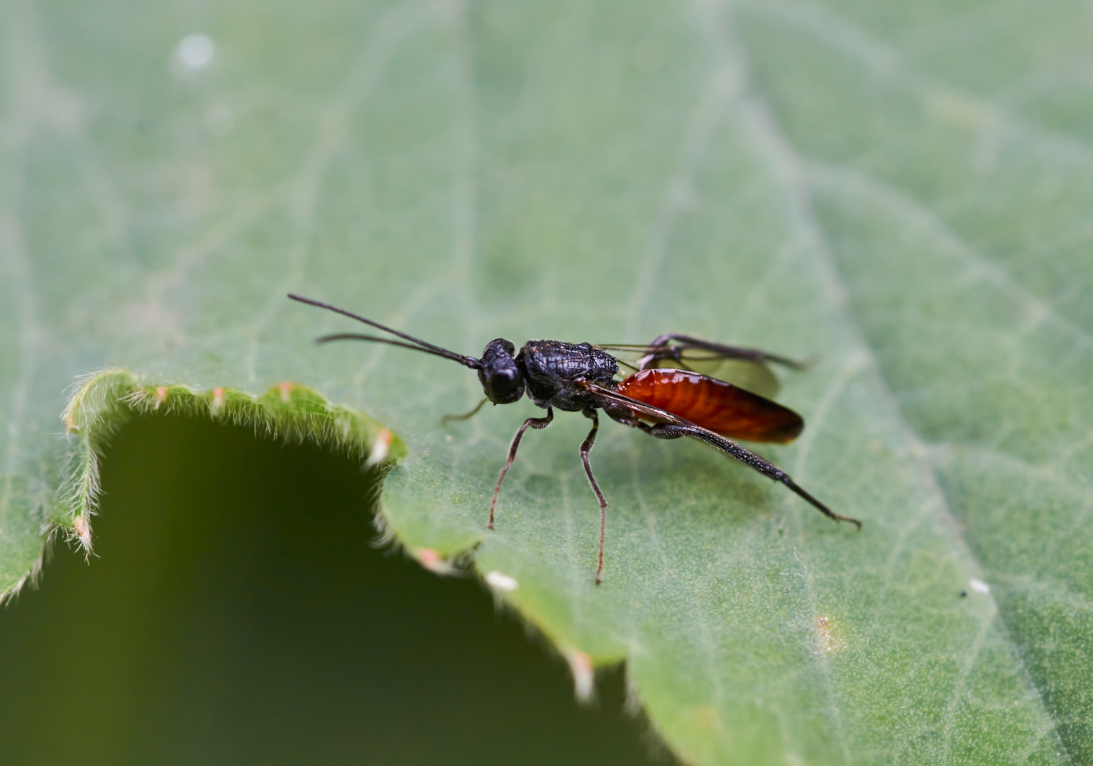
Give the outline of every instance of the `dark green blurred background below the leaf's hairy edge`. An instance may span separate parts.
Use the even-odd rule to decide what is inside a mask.
[[[377,550],[354,462],[141,419],[103,485],[96,557],[0,610],[2,764],[669,761],[620,670],[581,708],[479,582]]]

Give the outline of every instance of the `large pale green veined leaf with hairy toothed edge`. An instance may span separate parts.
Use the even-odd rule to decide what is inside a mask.
[[[1085,12],[10,5],[0,587],[43,527],[84,531],[134,408],[359,459],[383,423],[408,447],[395,537],[436,567],[473,550],[578,680],[625,660],[687,763],[1089,761]],[[865,530],[606,423],[597,588],[587,421],[526,436],[486,533],[536,409],[442,426],[472,373],[314,347],[357,328],[290,290],[460,353],[663,331],[819,353],[779,398],[804,435],[760,451]],[[57,436],[66,387],[110,368]]]

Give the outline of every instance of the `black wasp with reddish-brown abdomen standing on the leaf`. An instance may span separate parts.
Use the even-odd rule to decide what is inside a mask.
[[[563,341],[528,341],[517,352],[512,341],[498,338],[486,343],[480,358],[465,356],[438,345],[399,332],[372,319],[301,295],[289,295],[293,300],[324,308],[355,319],[381,330],[393,338],[355,332],[324,335],[317,343],[331,341],[367,341],[386,343],[402,349],[422,351],[458,362],[475,370],[485,398],[470,412],[445,415],[442,422],[467,420],[475,415],[487,401],[512,404],[525,394],[546,411],[543,417],[528,417],[516,431],[508,447],[508,458],[497,476],[493,499],[490,502],[490,522],[493,530],[494,510],[501,484],[516,459],[516,450],[528,428],[545,428],[554,420],[554,410],[579,412],[592,422],[588,436],[580,443],[580,461],[592,493],[600,504],[600,547],[596,567],[596,585],[603,574],[603,541],[607,530],[607,499],[592,474],[588,456],[596,444],[600,427],[599,411],[611,420],[639,428],[659,439],[678,439],[689,436],[729,455],[764,476],[780,482],[820,512],[834,521],[849,521],[861,529],[861,522],[839,516],[804,491],[788,473],[768,460],[741,447],[732,439],[786,444],[792,441],[804,428],[803,419],[749,388],[736,386],[712,375],[697,372],[703,364],[732,362],[750,373],[754,389],[772,391],[776,378],[771,365],[801,369],[807,365],[769,354],[757,349],[741,349],[680,333],[658,335],[646,345],[566,343]],[[396,340],[398,339],[398,340]],[[636,354],[635,362],[625,362],[609,352]],[[631,374],[616,380],[620,364],[631,368]]]

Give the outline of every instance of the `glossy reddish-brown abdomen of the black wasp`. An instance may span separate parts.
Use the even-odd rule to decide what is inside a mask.
[[[619,384],[619,392],[745,441],[792,441],[804,427],[801,416],[781,404],[683,369],[643,369]]]

